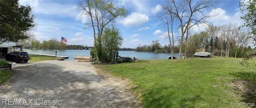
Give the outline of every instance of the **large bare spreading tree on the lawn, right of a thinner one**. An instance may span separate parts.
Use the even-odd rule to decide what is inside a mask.
[[[186,58],[186,47],[189,30],[196,24],[206,23],[206,17],[210,17],[204,13],[205,10],[209,9],[212,6],[212,1],[196,1],[191,3],[191,0],[183,0],[175,2],[171,0],[173,5],[173,15],[177,17],[180,27],[180,50],[179,58],[181,58],[181,51],[183,46],[183,39],[185,39],[185,58]],[[184,38],[186,33],[186,37]]]

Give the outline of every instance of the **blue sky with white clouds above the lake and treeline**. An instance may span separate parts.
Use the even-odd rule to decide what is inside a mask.
[[[67,44],[81,44],[93,46],[93,30],[84,23],[89,21],[81,15],[77,8],[79,1],[38,1],[20,0],[21,5],[30,5],[33,8],[36,27],[31,31],[37,40],[49,40],[61,37],[67,38]],[[163,10],[164,0],[121,0],[114,1],[116,6],[125,7],[128,11],[126,17],[118,17],[116,26],[124,38],[122,48],[135,48],[139,45],[151,44],[159,40],[162,46],[168,44],[168,34],[164,28],[159,13]],[[236,24],[241,25],[239,1],[217,1],[214,8],[205,13],[214,15],[209,17],[207,23],[214,25]],[[193,33],[204,31],[206,24],[194,26]],[[179,30],[174,28],[174,39],[178,39]]]

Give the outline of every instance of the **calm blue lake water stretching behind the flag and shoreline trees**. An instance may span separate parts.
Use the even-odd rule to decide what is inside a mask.
[[[76,56],[90,56],[90,50],[24,50],[28,53],[41,53],[45,55],[55,55],[57,51],[58,56],[69,56],[69,59],[74,60]],[[137,59],[167,59],[170,56],[170,53],[150,53],[150,52],[136,52],[136,51],[119,51],[119,56],[121,57],[135,57]],[[178,57],[178,54],[175,53],[174,57]]]

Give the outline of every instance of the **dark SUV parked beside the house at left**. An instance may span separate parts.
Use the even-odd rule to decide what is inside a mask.
[[[19,63],[20,61],[28,62],[29,55],[28,52],[12,51],[5,56],[5,59],[15,61],[16,63]]]

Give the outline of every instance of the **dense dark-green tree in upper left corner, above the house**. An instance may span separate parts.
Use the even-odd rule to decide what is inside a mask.
[[[0,43],[29,38],[27,31],[35,26],[30,6],[19,5],[18,0],[1,0],[0,11]]]

